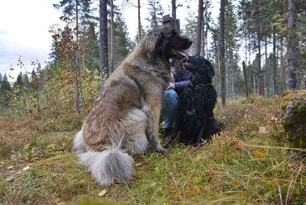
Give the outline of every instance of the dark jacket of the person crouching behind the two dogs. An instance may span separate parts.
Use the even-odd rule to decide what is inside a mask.
[[[189,77],[191,76],[191,72],[188,71],[187,69],[184,69],[184,67],[182,67],[181,72],[179,72],[179,70],[176,69],[176,64],[177,61],[174,61],[173,65],[174,65],[176,80],[175,82],[173,82],[173,84],[175,86],[175,92],[177,93],[177,95],[180,95],[185,89],[185,87],[187,87],[187,85],[190,84]]]

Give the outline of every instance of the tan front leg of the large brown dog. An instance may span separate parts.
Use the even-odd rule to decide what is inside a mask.
[[[146,136],[149,142],[149,145],[152,147],[153,151],[160,153],[168,153],[167,149],[164,149],[159,142],[158,135],[158,125],[160,117],[160,108],[159,106],[144,106],[143,111],[148,117],[148,125],[146,128]]]

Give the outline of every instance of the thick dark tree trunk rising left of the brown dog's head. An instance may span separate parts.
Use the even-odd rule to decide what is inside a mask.
[[[108,77],[108,38],[107,38],[107,0],[100,1],[100,75],[102,78]]]

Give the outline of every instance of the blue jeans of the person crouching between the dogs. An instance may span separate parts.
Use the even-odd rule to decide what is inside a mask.
[[[177,105],[179,105],[179,95],[174,89],[166,90],[166,105],[161,110],[161,121],[165,121],[165,128],[173,127]]]

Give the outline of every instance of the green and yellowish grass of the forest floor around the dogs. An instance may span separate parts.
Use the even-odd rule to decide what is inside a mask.
[[[78,130],[51,131],[29,119],[2,118],[0,204],[306,201],[306,167],[299,150],[287,148],[279,98],[228,101],[216,106],[215,116],[226,129],[210,143],[199,149],[176,144],[168,156],[135,154],[134,178],[109,188],[99,186],[69,151]],[[43,154],[34,156],[37,150]]]

